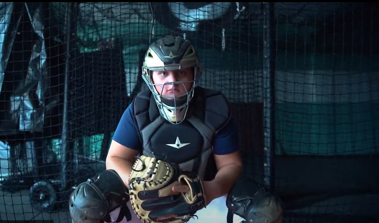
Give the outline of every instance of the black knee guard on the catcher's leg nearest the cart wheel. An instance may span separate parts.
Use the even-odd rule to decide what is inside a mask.
[[[128,190],[119,175],[114,170],[105,170],[75,188],[70,195],[69,210],[74,223],[121,222],[125,218],[130,221],[127,201]],[[120,211],[114,216],[117,208]]]

